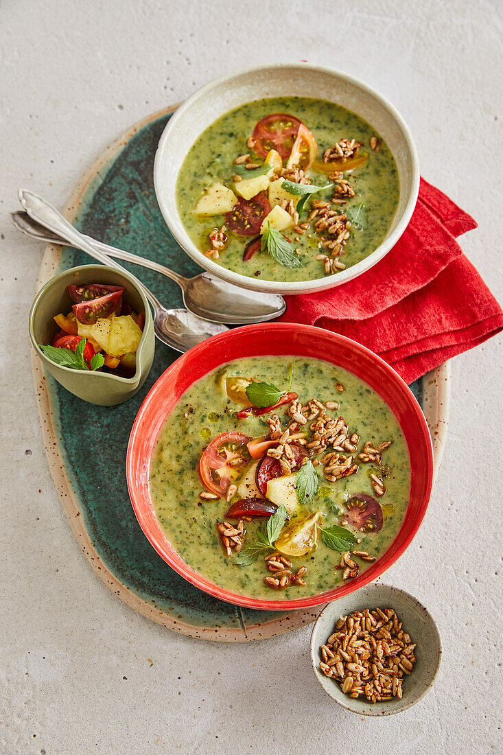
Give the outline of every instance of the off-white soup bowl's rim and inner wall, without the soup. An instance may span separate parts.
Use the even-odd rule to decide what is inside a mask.
[[[234,273],[205,257],[191,241],[177,211],[178,172],[199,134],[224,113],[262,97],[316,97],[346,107],[369,122],[387,142],[397,162],[400,200],[386,238],[372,254],[347,270],[320,279],[276,282]],[[308,63],[274,63],[221,76],[198,89],[181,105],[162,132],[154,164],[157,202],[177,242],[201,267],[214,275],[254,291],[307,294],[341,285],[360,276],[397,243],[418,199],[419,168],[412,136],[397,110],[372,87],[353,76]]]

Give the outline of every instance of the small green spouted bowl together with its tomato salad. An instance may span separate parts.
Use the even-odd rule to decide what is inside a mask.
[[[152,365],[150,307],[134,276],[101,265],[66,270],[32,304],[35,351],[67,390],[113,405],[140,388]]]

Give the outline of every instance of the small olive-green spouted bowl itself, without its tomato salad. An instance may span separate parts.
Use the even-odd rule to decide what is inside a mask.
[[[137,312],[145,312],[143,336],[136,353],[136,371],[133,377],[120,377],[110,372],[73,370],[55,364],[42,352],[39,344],[51,344],[57,325],[54,316],[67,313],[74,304],[67,286],[75,283],[107,283],[125,287],[125,297]],[[45,368],[79,399],[100,406],[113,406],[131,399],[140,390],[152,367],[156,337],[153,318],[147,298],[137,286],[137,279],[128,273],[119,273],[105,265],[82,265],[65,270],[51,278],[35,296],[29,312],[29,337],[33,348]]]

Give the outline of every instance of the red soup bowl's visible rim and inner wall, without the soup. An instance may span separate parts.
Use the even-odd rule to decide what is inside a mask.
[[[402,528],[370,569],[347,584],[297,600],[261,600],[224,590],[181,559],[159,524],[150,498],[150,462],[157,437],[171,408],[184,391],[208,372],[233,359],[248,356],[296,356],[324,359],[365,381],[391,408],[406,438],[411,461],[409,506]],[[126,461],[128,489],[140,527],[159,556],[191,584],[214,597],[251,609],[285,611],[307,609],[340,598],[374,580],[393,564],[414,538],[426,513],[434,479],[430,433],[424,414],[409,387],[393,368],[356,341],[322,328],[292,323],[248,325],[214,336],[194,347],[169,367],[134,421]]]

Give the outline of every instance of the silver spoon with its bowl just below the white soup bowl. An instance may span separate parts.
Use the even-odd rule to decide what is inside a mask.
[[[33,194],[32,196],[35,197],[36,195]],[[48,205],[41,197],[37,197],[37,199],[39,202],[47,205],[48,208],[51,208],[51,205]],[[54,208],[51,209],[57,213],[57,210],[54,210]],[[64,220],[62,215],[59,213],[57,215],[59,215],[61,220]],[[53,233],[64,238],[64,233],[61,233],[62,227],[57,227],[57,218],[54,214],[51,222],[53,223],[51,226],[48,226],[48,223],[42,223],[42,225],[45,225]],[[40,228],[36,230],[37,233],[41,233]],[[76,233],[79,233],[79,231],[76,231]],[[74,238],[76,239],[75,236]],[[285,311],[285,300],[277,294],[259,294],[257,291],[247,291],[245,288],[239,288],[218,279],[212,276],[211,273],[200,273],[199,276],[193,278],[184,278],[184,276],[174,273],[173,270],[157,262],[153,262],[153,260],[147,260],[144,257],[138,257],[137,254],[131,254],[114,246],[103,244],[103,242],[99,242],[96,239],[91,239],[91,236],[79,233],[79,238],[91,244],[94,249],[108,254],[109,257],[116,257],[119,260],[147,267],[149,270],[155,270],[156,273],[162,273],[163,276],[167,276],[180,286],[184,297],[184,305],[187,307],[187,310],[190,310],[190,312],[202,319],[211,320],[211,322],[226,322],[227,325],[245,325],[252,322],[271,320],[279,317]],[[54,240],[54,237],[47,240]],[[61,240],[56,239],[56,242],[61,243]],[[73,241],[72,245],[83,249],[78,241]],[[87,249],[83,251],[87,251]]]

